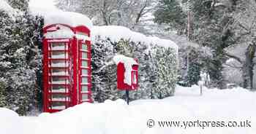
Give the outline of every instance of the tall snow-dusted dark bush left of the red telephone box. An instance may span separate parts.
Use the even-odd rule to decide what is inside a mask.
[[[12,6],[23,5],[18,3]],[[15,11],[0,9],[0,106],[24,115],[35,105],[39,90],[36,74],[42,25],[28,10]]]

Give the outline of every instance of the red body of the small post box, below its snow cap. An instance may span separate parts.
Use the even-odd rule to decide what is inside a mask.
[[[125,68],[123,62],[117,64],[117,88],[118,90],[136,90],[138,89],[138,63],[129,65],[132,68]],[[128,72],[127,72],[128,71]],[[127,82],[125,82],[127,79]]]

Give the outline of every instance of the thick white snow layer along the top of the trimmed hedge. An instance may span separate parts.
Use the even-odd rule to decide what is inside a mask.
[[[145,36],[142,33],[131,31],[129,28],[125,28],[123,26],[94,26],[91,31],[93,38],[95,36],[100,36],[101,38],[109,38],[113,42],[118,42],[120,39],[131,39],[134,42],[144,42],[148,45],[156,44],[160,47],[171,47],[178,51],[178,46],[173,41],[159,39],[156,36]]]

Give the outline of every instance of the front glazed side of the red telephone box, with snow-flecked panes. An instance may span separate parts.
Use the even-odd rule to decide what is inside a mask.
[[[67,109],[72,104],[72,61],[69,39],[44,42],[45,111]]]

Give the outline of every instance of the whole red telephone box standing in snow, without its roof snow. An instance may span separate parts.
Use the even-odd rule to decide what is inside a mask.
[[[92,102],[89,28],[54,23],[46,25],[43,33],[43,110],[55,112]]]

